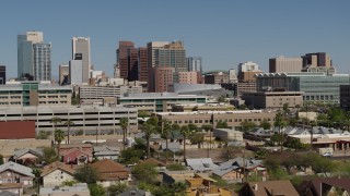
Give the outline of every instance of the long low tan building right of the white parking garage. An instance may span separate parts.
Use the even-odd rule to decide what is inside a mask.
[[[228,123],[229,127],[240,130],[242,122],[260,124],[264,119],[273,124],[276,112],[262,110],[233,110],[233,111],[194,111],[194,112],[156,112],[161,120],[167,120],[173,124],[186,125],[196,124],[198,127],[203,124],[217,126],[218,122]]]

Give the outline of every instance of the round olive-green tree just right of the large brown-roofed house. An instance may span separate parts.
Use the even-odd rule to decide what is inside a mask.
[[[139,163],[132,168],[131,173],[137,180],[147,183],[154,182],[158,175],[155,164],[152,163]]]

